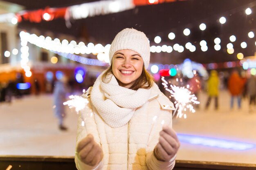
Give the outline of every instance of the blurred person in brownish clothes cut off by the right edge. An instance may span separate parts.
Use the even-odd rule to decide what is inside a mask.
[[[249,96],[249,112],[252,112],[253,110],[256,110],[256,76],[255,75],[251,75],[251,77],[247,81],[247,94]]]

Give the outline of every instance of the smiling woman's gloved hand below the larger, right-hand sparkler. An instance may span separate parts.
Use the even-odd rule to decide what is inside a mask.
[[[154,149],[155,157],[159,161],[170,161],[180,148],[180,141],[176,132],[169,126],[163,126],[159,134],[159,142]]]

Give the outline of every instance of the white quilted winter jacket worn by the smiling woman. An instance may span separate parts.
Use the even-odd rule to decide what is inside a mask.
[[[157,89],[159,91],[159,89]],[[138,108],[130,121],[112,128],[100,117],[90,102],[91,88],[83,96],[88,108],[80,111],[76,144],[89,133],[103,149],[103,160],[97,166],[88,166],[75,155],[78,170],[171,170],[175,157],[169,162],[156,159],[153,150],[159,140],[163,124],[172,126],[173,103],[159,91],[152,92],[148,102]],[[84,122],[82,122],[84,121]]]

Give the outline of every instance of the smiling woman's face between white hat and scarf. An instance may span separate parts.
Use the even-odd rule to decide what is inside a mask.
[[[112,58],[112,72],[120,86],[130,88],[141,75],[143,64],[139,53],[132,50],[119,50]]]

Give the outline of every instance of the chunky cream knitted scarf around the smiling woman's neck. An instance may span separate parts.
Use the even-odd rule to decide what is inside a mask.
[[[103,73],[102,73],[103,74]],[[137,91],[119,86],[114,75],[107,77],[107,82],[101,80],[102,74],[96,79],[91,101],[99,115],[111,127],[124,126],[132,118],[136,108],[145,104],[150,98],[152,88],[139,88]],[[154,84],[154,86],[157,86]]]

